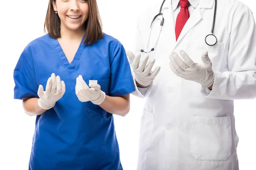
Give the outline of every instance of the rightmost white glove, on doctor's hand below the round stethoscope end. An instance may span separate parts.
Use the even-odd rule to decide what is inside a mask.
[[[204,88],[210,87],[214,82],[214,73],[212,71],[212,62],[209,59],[208,51],[201,55],[202,63],[195,63],[186,54],[180,50],[180,56],[175,52],[170,54],[170,68],[179,77],[200,83]]]

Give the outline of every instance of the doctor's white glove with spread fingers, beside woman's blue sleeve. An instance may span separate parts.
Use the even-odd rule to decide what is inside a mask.
[[[131,68],[134,71],[134,78],[135,80],[143,86],[148,87],[151,82],[154,80],[154,78],[157,76],[157,74],[160,71],[160,66],[157,66],[154,71],[151,71],[155,59],[151,59],[148,62],[148,56],[145,57],[144,59],[140,60],[141,55],[135,55],[131,51],[126,51],[126,55],[129,59]],[[148,65],[146,65],[148,62]]]

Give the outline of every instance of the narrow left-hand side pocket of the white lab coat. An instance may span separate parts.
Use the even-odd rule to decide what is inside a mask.
[[[141,117],[140,123],[140,150],[145,152],[150,146],[151,136],[154,125],[154,113],[148,112],[145,109]]]

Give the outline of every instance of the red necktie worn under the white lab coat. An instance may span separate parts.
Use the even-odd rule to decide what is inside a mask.
[[[176,41],[180,36],[180,32],[185,26],[187,20],[189,19],[189,1],[188,0],[180,0],[180,12],[176,19],[175,25],[175,34],[176,34]]]

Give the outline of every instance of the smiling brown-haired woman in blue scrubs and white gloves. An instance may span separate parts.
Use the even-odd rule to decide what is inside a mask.
[[[49,0],[45,27],[14,70],[15,99],[36,116],[29,170],[122,170],[113,114],[135,90],[125,49],[102,32],[96,0]]]

